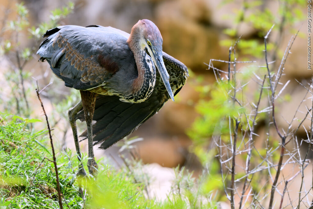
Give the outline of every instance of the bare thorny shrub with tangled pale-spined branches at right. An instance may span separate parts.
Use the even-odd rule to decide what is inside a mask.
[[[300,102],[300,104],[299,104],[299,106],[298,106],[298,108],[297,108],[297,110],[295,112],[295,115],[293,116],[292,120],[288,121],[288,122],[286,121],[287,124],[288,124],[287,130],[279,129],[279,127],[277,125],[277,122],[276,122],[276,118],[275,118],[275,100],[277,98],[280,98],[280,95],[286,89],[286,86],[290,83],[290,81],[287,81],[284,85],[282,85],[282,88],[280,89],[278,94],[275,94],[275,92],[277,90],[278,84],[281,84],[280,83],[280,78],[283,75],[286,59],[287,59],[288,55],[290,54],[291,47],[292,47],[292,45],[293,45],[293,43],[295,41],[295,38],[297,37],[298,33],[295,34],[295,36],[290,39],[290,41],[288,43],[288,46],[286,47],[285,53],[283,55],[283,58],[281,60],[281,63],[279,65],[278,71],[275,73],[275,72],[272,72],[272,70],[270,70],[270,68],[269,68],[269,65],[274,63],[275,61],[269,61],[268,60],[268,52],[267,52],[267,39],[268,39],[269,34],[270,34],[271,30],[273,29],[273,27],[274,27],[274,25],[272,26],[272,28],[268,31],[268,33],[264,37],[264,47],[265,47],[264,52],[265,52],[265,64],[266,65],[265,66],[258,66],[259,68],[266,68],[267,75],[265,75],[264,78],[262,79],[261,78],[262,76],[259,77],[258,75],[256,75],[254,73],[254,75],[257,78],[257,80],[255,82],[258,83],[261,86],[260,87],[260,94],[259,94],[258,102],[256,104],[254,104],[253,102],[252,102],[252,104],[248,103],[248,105],[250,105],[253,108],[253,110],[250,112],[250,114],[247,114],[245,112],[244,113],[239,113],[239,116],[237,118],[236,117],[232,117],[232,116],[228,116],[229,128],[230,128],[229,129],[229,131],[230,131],[230,146],[228,144],[222,144],[223,142],[221,140],[221,136],[219,136],[219,137],[216,136],[216,137],[219,138],[219,142],[214,140],[214,143],[215,143],[215,145],[218,148],[217,157],[218,157],[220,165],[221,165],[221,174],[222,174],[224,192],[225,192],[228,200],[231,203],[231,208],[235,208],[234,195],[236,193],[239,193],[237,191],[238,188],[236,187],[236,182],[242,182],[243,179],[244,179],[243,187],[242,187],[241,194],[239,195],[239,197],[240,197],[239,208],[242,208],[242,206],[245,205],[245,203],[247,202],[249,196],[253,197],[253,204],[252,205],[259,206],[261,208],[264,208],[261,205],[261,202],[265,198],[269,198],[269,207],[268,208],[272,208],[273,207],[275,191],[277,193],[279,193],[280,196],[281,196],[280,208],[282,208],[282,202],[283,202],[283,198],[284,198],[286,192],[288,193],[289,199],[291,198],[290,194],[289,194],[289,191],[288,191],[288,185],[290,184],[289,182],[292,181],[300,173],[301,173],[301,177],[302,177],[302,182],[301,182],[301,186],[300,186],[300,191],[301,191],[302,184],[304,182],[303,170],[307,167],[308,162],[309,162],[306,159],[306,156],[307,156],[308,152],[306,153],[304,159],[301,159],[301,157],[300,157],[300,160],[298,160],[297,157],[296,157],[298,153],[296,151],[299,152],[298,155],[300,156],[299,146],[298,146],[298,149],[295,149],[294,151],[290,152],[289,150],[286,150],[285,144],[286,144],[287,138],[288,138],[287,143],[290,142],[290,140],[294,138],[295,133],[297,133],[299,128],[301,126],[303,126],[302,124],[303,124],[304,120],[308,117],[308,115],[312,111],[313,104],[312,104],[312,107],[307,107],[307,112],[305,113],[305,117],[303,118],[303,120],[299,120],[299,125],[295,129],[292,128],[291,123],[293,123],[293,121],[295,121],[296,113],[299,111],[300,105],[302,104],[302,102],[305,101],[305,97],[307,96],[307,93],[312,93],[313,89],[312,89],[312,91],[310,91],[309,88],[306,88],[304,86],[308,91],[305,94],[303,100]],[[230,47],[229,48],[229,53],[232,53],[232,52],[235,55],[234,47]],[[213,66],[213,61],[221,61],[221,62],[228,63],[228,71],[222,71],[220,69],[215,68]],[[235,102],[238,103],[241,108],[245,108],[245,106],[247,104],[245,102],[243,102],[243,101],[240,101],[240,99],[238,100],[238,98],[236,98],[236,92],[242,91],[243,87],[246,85],[246,84],[241,85],[241,87],[239,87],[239,88],[237,86],[237,88],[236,88],[236,81],[235,81],[236,77],[235,77],[235,74],[236,73],[240,73],[240,72],[236,72],[236,63],[239,63],[239,61],[236,60],[236,57],[234,58],[234,61],[231,61],[231,54],[229,54],[228,61],[210,60],[210,63],[208,65],[208,67],[209,67],[209,69],[213,69],[213,72],[214,72],[214,75],[216,77],[216,80],[217,80],[218,84],[223,83],[223,79],[226,77],[227,81],[225,81],[225,82],[227,82],[229,84],[228,87],[230,89],[225,89],[225,90],[228,92],[229,98],[232,99],[234,103]],[[241,63],[243,63],[243,62],[241,62]],[[248,62],[246,62],[246,63],[248,63]],[[233,65],[233,69],[230,66],[231,64]],[[223,76],[225,76],[225,77],[223,77]],[[268,80],[267,80],[267,78],[268,78]],[[265,80],[269,81],[269,86],[264,86]],[[259,81],[261,81],[261,82],[259,82]],[[312,82],[313,82],[313,79],[312,79]],[[311,85],[313,85],[313,84],[311,84]],[[223,88],[225,88],[225,87],[223,87]],[[312,88],[312,86],[311,86],[311,88]],[[259,110],[261,97],[262,97],[262,91],[266,90],[266,89],[268,90],[267,92],[268,92],[269,106],[267,108],[264,108],[263,110]],[[261,113],[261,112],[269,112],[269,114],[271,114],[272,121],[268,121],[269,130],[270,130],[270,127],[273,125],[274,128],[275,128],[275,131],[277,132],[278,136],[281,139],[281,143],[280,143],[279,146],[277,146],[275,148],[274,147],[270,147],[270,143],[269,143],[269,139],[270,139],[269,136],[270,136],[270,134],[269,134],[269,130],[267,131],[267,141],[266,141],[267,147],[266,147],[266,156],[265,157],[262,154],[260,154],[258,152],[258,150],[253,145],[253,135],[257,135],[256,133],[254,133],[254,128],[255,128],[256,120],[257,120],[257,115],[259,113]],[[245,116],[245,120],[246,120],[247,124],[246,124],[246,128],[245,129],[243,127],[241,127],[241,129],[239,130],[240,133],[241,133],[241,136],[242,136],[242,141],[240,142],[240,144],[238,144],[239,143],[238,142],[239,119],[241,118],[240,114],[243,114]],[[312,115],[313,115],[313,113],[312,113]],[[313,116],[312,115],[310,115],[311,116],[311,118],[310,118],[311,121],[313,121]],[[252,123],[249,123],[249,122],[252,122]],[[292,135],[292,137],[290,137],[290,135]],[[309,144],[312,143],[312,124],[311,124],[311,127],[310,127],[310,134],[307,131],[307,136],[308,136]],[[245,138],[248,138],[248,140],[245,141]],[[245,148],[244,150],[241,150],[240,148],[237,147],[237,146],[240,147],[242,145],[244,145],[244,148]],[[309,145],[309,149],[310,149],[310,146],[311,145]],[[250,160],[251,160],[252,150],[253,149],[256,151],[256,153],[259,155],[259,157],[262,159],[262,162],[258,163],[257,165],[255,165],[255,168],[251,169],[250,168]],[[273,157],[273,154],[276,153],[278,149],[280,149],[280,154],[279,154],[279,160],[278,160],[278,164],[277,164],[277,163],[272,162],[272,157]],[[226,150],[226,152],[225,152],[225,150]],[[235,157],[236,157],[236,154],[241,154],[243,152],[247,153],[246,163],[245,163],[245,167],[240,167],[239,165],[236,165]],[[285,152],[286,152],[286,154],[285,154]],[[289,159],[283,161],[283,157],[285,155],[288,155]],[[267,166],[262,165],[264,163],[266,163]],[[295,164],[295,163],[300,165],[300,171],[296,172],[288,180],[280,181],[279,180],[280,172],[281,172],[281,170],[283,170],[284,166],[287,165],[287,164]],[[227,169],[226,173],[223,171],[223,167]],[[238,179],[235,179],[235,168],[236,167],[240,167],[245,172],[245,175],[241,176]],[[272,176],[271,176],[270,168],[275,168],[275,170],[276,170],[276,174],[275,174],[274,178],[272,178]],[[270,179],[265,179],[265,180],[267,182],[270,182],[270,180],[272,180],[273,183],[271,185],[271,192],[270,192],[270,194],[265,194],[262,197],[262,196],[260,196],[260,194],[261,194],[260,192],[261,192],[262,188],[259,191],[254,191],[254,188],[251,185],[251,181],[252,181],[252,178],[253,178],[255,173],[263,172],[264,170],[268,170],[269,177],[270,177]],[[229,188],[227,188],[225,183],[224,183],[224,180],[226,180],[227,176],[229,176],[229,175],[231,175],[231,180],[229,182],[230,186],[229,186]],[[249,178],[249,176],[251,176],[251,177]],[[284,179],[285,179],[285,177],[284,177]],[[255,179],[254,178],[254,183],[255,182],[260,182],[260,179]],[[280,192],[277,189],[277,185],[279,185],[279,184],[281,184],[283,182],[285,183],[285,187],[284,187],[284,190],[282,192]],[[312,179],[312,183],[313,183],[313,179]],[[250,188],[250,190],[249,190],[249,188]],[[310,190],[311,189],[312,189],[312,187],[310,188]],[[230,191],[230,196],[228,195],[227,190]],[[306,191],[307,194],[309,193],[309,191]],[[248,192],[248,194],[246,192]],[[246,196],[245,201],[244,201],[244,196]],[[300,196],[301,195],[299,193],[299,200],[297,200],[298,201],[298,208],[300,207],[300,202],[302,202],[302,199],[303,199],[303,198],[300,199]],[[294,202],[294,200],[291,201],[291,199],[290,199],[290,204],[292,204],[292,202]],[[312,202],[313,202],[313,200],[312,200]],[[313,203],[310,203],[310,205],[313,208]]]

